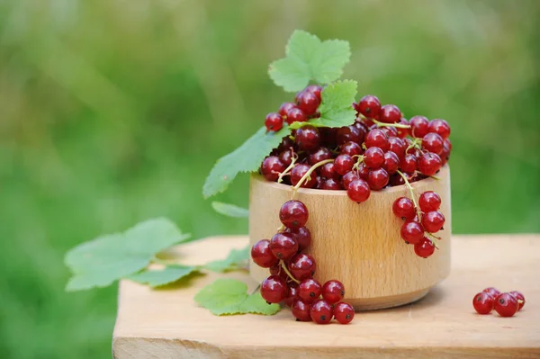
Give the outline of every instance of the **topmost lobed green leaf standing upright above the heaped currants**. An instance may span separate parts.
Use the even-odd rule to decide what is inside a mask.
[[[320,84],[337,80],[350,57],[347,41],[321,41],[307,31],[296,30],[285,48],[285,58],[270,64],[268,74],[275,85],[284,87],[287,92],[297,92],[310,80]]]

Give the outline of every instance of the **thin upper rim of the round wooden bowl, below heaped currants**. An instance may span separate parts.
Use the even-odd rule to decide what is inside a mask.
[[[449,171],[448,168],[449,166],[447,164],[443,166],[440,169],[440,171],[437,173],[437,176],[441,178],[448,176],[448,171]],[[290,191],[292,188],[290,184],[278,184],[277,182],[266,181],[266,178],[263,175],[260,175],[258,173],[253,173],[251,175],[251,178],[259,182],[264,182],[267,186],[274,187],[275,189],[282,190],[282,191]],[[417,188],[424,185],[428,186],[429,184],[432,184],[435,181],[438,181],[438,180],[432,177],[428,177],[428,178],[424,178],[423,180],[413,182],[410,185],[412,186],[412,188]],[[371,195],[380,196],[387,193],[402,192],[406,188],[407,186],[405,184],[401,184],[401,185],[396,185],[390,188],[385,188],[381,191],[372,191]],[[298,193],[311,194],[311,195],[324,195],[324,196],[328,196],[328,195],[347,196],[346,190],[332,191],[332,190],[318,190],[314,188],[299,188]]]

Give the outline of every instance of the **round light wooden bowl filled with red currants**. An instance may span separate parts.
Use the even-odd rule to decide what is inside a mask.
[[[300,189],[296,199],[306,204],[311,230],[308,252],[317,262],[315,279],[324,283],[338,279],[345,284],[346,300],[356,310],[376,310],[418,301],[429,289],[450,273],[450,169],[444,166],[438,180],[415,182],[419,193],[435,191],[442,200],[446,217],[443,230],[437,233],[439,249],[433,256],[416,256],[412,245],[400,236],[403,220],[392,213],[392,203],[409,196],[405,185],[372,192],[369,200],[356,203],[346,191]],[[280,227],[279,210],[291,199],[292,187],[268,182],[252,175],[249,192],[249,240],[270,239]],[[262,282],[269,274],[253,262],[250,274]]]

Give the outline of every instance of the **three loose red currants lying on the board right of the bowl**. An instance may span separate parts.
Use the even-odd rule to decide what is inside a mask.
[[[473,307],[478,314],[490,314],[495,310],[501,317],[512,317],[524,305],[525,297],[521,292],[501,293],[493,287],[484,289],[473,298]]]

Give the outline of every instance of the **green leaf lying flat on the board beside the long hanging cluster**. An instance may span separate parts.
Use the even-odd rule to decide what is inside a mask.
[[[195,295],[194,301],[218,316],[246,313],[273,315],[280,310],[277,304],[268,305],[258,291],[247,294],[246,283],[236,279],[218,279],[208,284]]]

